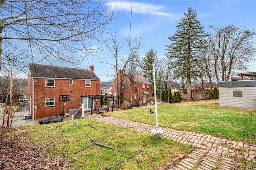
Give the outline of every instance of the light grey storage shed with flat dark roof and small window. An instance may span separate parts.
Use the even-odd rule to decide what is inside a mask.
[[[221,81],[220,106],[256,109],[256,80]]]

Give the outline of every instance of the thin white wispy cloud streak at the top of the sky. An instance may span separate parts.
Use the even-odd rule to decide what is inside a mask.
[[[172,14],[170,12],[165,12],[166,8],[164,6],[157,6],[154,4],[141,3],[141,2],[133,2],[130,1],[110,1],[107,3],[108,6],[116,6],[118,10],[126,10],[137,13],[137,14],[150,14],[156,16],[166,16],[175,19],[180,19],[180,16],[176,14]]]

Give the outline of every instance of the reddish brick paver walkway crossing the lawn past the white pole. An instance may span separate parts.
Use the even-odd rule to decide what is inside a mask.
[[[152,125],[116,119],[112,117],[95,117],[94,120],[128,128],[138,132],[151,133]],[[170,170],[232,170],[237,162],[234,157],[246,158],[256,163],[256,145],[242,141],[231,141],[196,132],[174,130],[171,128],[159,127],[164,131],[163,136],[178,142],[194,145],[196,150],[182,157],[174,159],[175,164]]]

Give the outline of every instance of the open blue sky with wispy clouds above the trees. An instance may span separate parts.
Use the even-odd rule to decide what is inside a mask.
[[[197,12],[198,20],[207,32],[210,31],[209,25],[225,26],[234,24],[237,27],[246,25],[250,30],[256,29],[256,0],[134,0],[133,3],[131,0],[110,0],[107,2],[107,5],[109,7],[117,6],[119,11],[118,18],[114,21],[114,28],[118,30],[116,38],[119,41],[129,36],[131,4],[131,34],[136,34],[137,36],[141,34],[141,43],[144,45],[138,51],[140,56],[144,56],[150,49],[157,51],[157,55],[164,56],[164,53],[166,53],[164,45],[171,43],[168,40],[168,36],[174,35],[178,22],[185,17],[184,13],[187,12],[189,7],[192,7]],[[253,42],[256,47],[256,36],[254,36]],[[125,56],[128,54],[128,49],[126,44],[123,47],[122,54]],[[108,77],[105,74],[111,69],[108,65],[100,63],[98,57],[102,61],[106,61],[106,58],[110,57],[110,51],[104,49],[98,53],[98,56],[88,57],[84,60],[83,65],[93,65],[94,73],[96,73],[101,81],[112,80],[112,77]],[[62,65],[63,63],[59,66]],[[66,65],[66,67],[69,66]],[[256,62],[252,63],[250,71],[256,71]]]

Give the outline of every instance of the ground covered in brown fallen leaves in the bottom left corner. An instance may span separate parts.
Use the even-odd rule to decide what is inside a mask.
[[[12,128],[18,130],[18,128]],[[40,142],[29,142],[29,134],[10,134],[0,128],[0,170],[64,170],[70,166],[63,157],[52,157]]]

